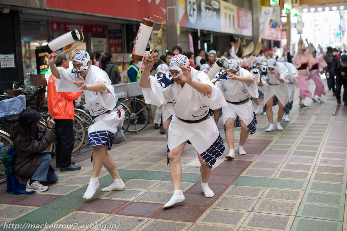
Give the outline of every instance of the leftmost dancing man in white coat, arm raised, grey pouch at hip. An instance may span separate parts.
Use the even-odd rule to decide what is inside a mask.
[[[113,85],[107,73],[92,65],[89,54],[79,50],[72,57],[74,68],[67,71],[56,67],[55,53],[49,55],[49,65],[56,77],[58,92],[83,92],[89,113],[95,122],[88,128],[89,146],[93,150],[93,174],[83,198],[90,199],[99,187],[99,173],[102,165],[113,177],[113,183],[102,191],[124,190],[115,160],[107,153],[117,129],[122,129],[125,112],[117,100]]]

